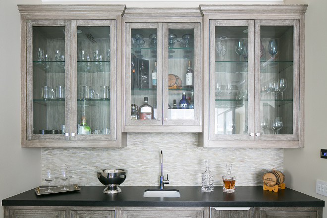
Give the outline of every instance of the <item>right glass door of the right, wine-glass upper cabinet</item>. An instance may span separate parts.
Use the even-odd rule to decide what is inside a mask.
[[[298,141],[299,20],[255,23],[255,139]]]

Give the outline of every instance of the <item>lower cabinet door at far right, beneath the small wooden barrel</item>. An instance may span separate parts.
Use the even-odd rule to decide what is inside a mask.
[[[317,218],[315,211],[260,211],[260,218]]]

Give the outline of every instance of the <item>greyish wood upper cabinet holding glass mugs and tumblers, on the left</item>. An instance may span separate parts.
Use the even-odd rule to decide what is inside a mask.
[[[122,146],[124,8],[19,5],[23,147]]]

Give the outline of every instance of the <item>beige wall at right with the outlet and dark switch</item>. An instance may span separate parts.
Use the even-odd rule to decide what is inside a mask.
[[[285,3],[309,4],[305,15],[305,148],[284,149],[286,186],[327,201],[327,197],[316,194],[316,180],[327,181],[327,159],[320,158],[320,149],[327,148],[327,1]]]

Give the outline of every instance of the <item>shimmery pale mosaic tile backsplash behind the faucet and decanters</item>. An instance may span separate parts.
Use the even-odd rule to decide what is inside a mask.
[[[197,133],[128,133],[126,148],[43,148],[42,170],[57,169],[52,185],[63,184],[58,173],[66,165],[70,169],[67,184],[102,185],[97,170],[123,168],[128,174],[122,185],[159,186],[161,150],[163,174],[168,173],[169,178],[165,186],[200,186],[205,159],[209,160],[216,186],[222,185],[225,163],[233,163],[237,186],[262,185],[265,172],[283,170],[281,148],[200,148],[197,138]],[[43,180],[42,184],[48,183]]]

